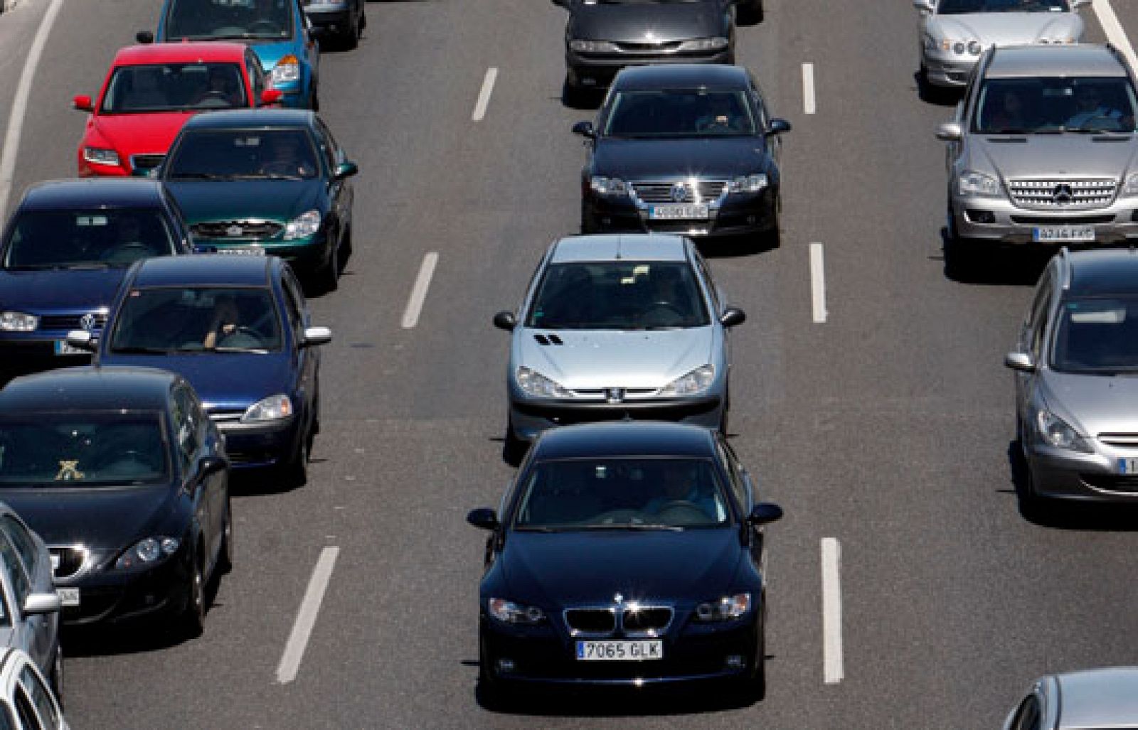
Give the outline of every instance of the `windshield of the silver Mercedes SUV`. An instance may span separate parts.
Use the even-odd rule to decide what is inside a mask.
[[[979,134],[1132,133],[1135,90],[1124,77],[989,78],[980,89]]]

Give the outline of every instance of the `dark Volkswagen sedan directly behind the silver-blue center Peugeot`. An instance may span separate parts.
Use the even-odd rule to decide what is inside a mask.
[[[765,234],[778,243],[781,175],[774,118],[745,68],[644,66],[617,75],[587,138],[583,232]]]

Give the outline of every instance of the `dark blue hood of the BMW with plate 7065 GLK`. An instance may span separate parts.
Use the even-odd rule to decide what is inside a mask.
[[[498,559],[511,599],[568,606],[706,600],[732,588],[740,550],[733,529],[512,532]]]

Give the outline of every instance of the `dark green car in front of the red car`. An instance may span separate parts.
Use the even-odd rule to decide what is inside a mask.
[[[160,177],[197,250],[279,256],[332,291],[352,252],[356,172],[315,113],[234,109],[189,119]]]

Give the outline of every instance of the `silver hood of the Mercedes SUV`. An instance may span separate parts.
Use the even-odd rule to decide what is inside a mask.
[[[972,168],[984,163],[1000,177],[1118,177],[1131,167],[1135,138],[1095,141],[1088,134],[1029,134],[1013,138],[975,138]],[[1024,141],[1025,140],[1025,141]],[[979,164],[976,164],[979,163]]]

